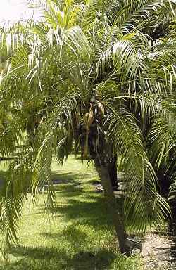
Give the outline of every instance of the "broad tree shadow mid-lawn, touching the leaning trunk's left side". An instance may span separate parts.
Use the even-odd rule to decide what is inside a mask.
[[[55,185],[56,194],[66,198],[67,203],[63,204],[61,202],[51,212],[63,214],[66,220],[77,222],[78,224],[90,224],[92,226],[112,224],[103,195],[97,196],[94,191],[86,193],[82,185],[80,185],[79,175],[71,172],[57,174],[55,181],[60,181],[62,184]],[[65,184],[67,181],[69,184]],[[40,208],[40,210],[48,211],[45,207]]]

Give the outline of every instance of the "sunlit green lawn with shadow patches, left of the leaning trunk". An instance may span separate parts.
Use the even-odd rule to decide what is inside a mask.
[[[63,167],[53,164],[56,184],[55,219],[39,205],[25,203],[19,226],[19,244],[11,248],[9,262],[0,260],[0,270],[138,270],[139,258],[119,254],[115,231],[103,193],[92,181],[96,172],[85,162],[70,157]]]

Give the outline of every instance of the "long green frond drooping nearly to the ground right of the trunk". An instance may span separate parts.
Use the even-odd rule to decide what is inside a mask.
[[[125,179],[127,180],[127,198],[125,217],[130,221],[131,229],[144,232],[147,224],[162,226],[168,204],[158,194],[156,174],[149,162],[144,147],[142,132],[132,115],[121,108],[115,110],[108,106],[109,136],[117,153],[125,158]]]

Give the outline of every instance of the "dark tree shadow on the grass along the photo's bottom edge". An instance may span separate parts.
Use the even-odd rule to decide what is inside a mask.
[[[0,266],[1,270],[107,270],[116,257],[106,248],[69,256],[56,248],[18,246],[13,247],[11,253],[17,261]]]

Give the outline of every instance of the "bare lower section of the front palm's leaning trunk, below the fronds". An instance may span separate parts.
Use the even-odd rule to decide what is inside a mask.
[[[127,245],[127,233],[125,232],[124,222],[122,216],[120,214],[120,210],[118,210],[118,205],[116,203],[115,195],[113,192],[113,188],[111,185],[111,179],[108,173],[108,167],[105,165],[97,165],[95,161],[97,172],[101,177],[101,184],[104,189],[104,195],[106,201],[108,203],[108,211],[111,213],[111,217],[113,219],[113,223],[115,225],[115,231],[118,236],[119,248],[120,252],[129,256],[130,248]]]

